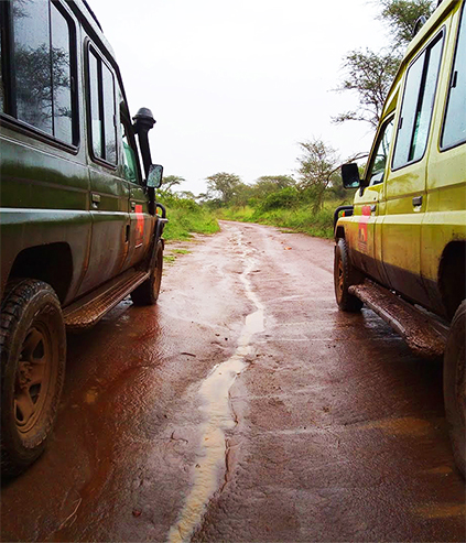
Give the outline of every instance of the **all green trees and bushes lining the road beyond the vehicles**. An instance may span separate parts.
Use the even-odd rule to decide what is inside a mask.
[[[335,90],[355,94],[358,107],[337,115],[332,122],[362,121],[377,128],[414,25],[421,17],[426,20],[437,3],[431,0],[375,2],[390,40],[381,51],[355,50],[344,56],[345,75]],[[165,238],[188,239],[191,232],[214,234],[219,229],[217,219],[262,222],[332,238],[334,209],[353,198],[342,187],[340,165],[364,161],[367,154],[342,158],[318,137],[299,142],[296,154],[293,175],[263,175],[246,184],[234,173],[218,172],[206,178],[207,191],[198,196],[178,191],[183,177],[165,177],[159,194],[170,218]],[[360,170],[362,174],[364,164]]]

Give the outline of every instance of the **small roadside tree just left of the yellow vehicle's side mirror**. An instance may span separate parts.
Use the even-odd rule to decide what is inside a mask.
[[[310,193],[313,213],[322,209],[325,189],[332,184],[340,161],[336,151],[321,139],[299,143],[302,155],[297,158],[300,167],[299,186]]]

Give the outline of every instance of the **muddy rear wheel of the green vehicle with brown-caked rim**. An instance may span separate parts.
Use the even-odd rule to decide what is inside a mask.
[[[42,281],[7,286],[1,304],[1,471],[18,475],[44,450],[65,378],[59,301]]]

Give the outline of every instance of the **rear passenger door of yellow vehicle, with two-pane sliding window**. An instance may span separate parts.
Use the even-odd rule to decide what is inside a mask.
[[[441,30],[408,67],[381,224],[383,269],[389,284],[419,303],[427,298],[421,279],[421,224],[426,206],[426,149],[443,43]]]

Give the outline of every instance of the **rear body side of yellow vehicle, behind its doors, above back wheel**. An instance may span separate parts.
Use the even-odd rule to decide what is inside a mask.
[[[438,290],[438,268],[443,251],[451,241],[466,238],[465,2],[463,7],[456,7],[451,22],[449,47],[445,55],[444,73],[438,87],[438,107],[432,130],[427,208],[422,224],[421,245],[421,274],[430,292],[431,306],[437,312],[443,308]],[[455,286],[456,292],[460,292],[460,284]]]

